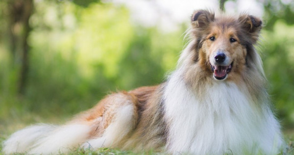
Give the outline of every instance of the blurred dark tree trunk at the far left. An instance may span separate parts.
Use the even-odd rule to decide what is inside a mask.
[[[14,64],[19,69],[17,91],[23,95],[28,73],[29,46],[27,39],[31,31],[29,18],[33,13],[33,0],[8,0],[8,4],[10,50]]]

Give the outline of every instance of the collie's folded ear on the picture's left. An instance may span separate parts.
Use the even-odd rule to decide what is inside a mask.
[[[208,26],[210,22],[213,22],[214,19],[214,13],[211,13],[207,10],[197,10],[194,11],[191,17],[191,24],[193,27],[204,27]]]

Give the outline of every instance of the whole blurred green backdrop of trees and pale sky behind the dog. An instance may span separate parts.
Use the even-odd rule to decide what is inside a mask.
[[[0,141],[61,124],[116,90],[166,79],[193,10],[264,19],[257,46],[284,133],[294,133],[293,0],[0,0]]]

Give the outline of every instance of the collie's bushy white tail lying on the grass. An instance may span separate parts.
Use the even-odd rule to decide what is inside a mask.
[[[70,124],[64,126],[35,125],[13,133],[3,143],[5,154],[58,154],[67,153],[85,141],[90,126]]]

